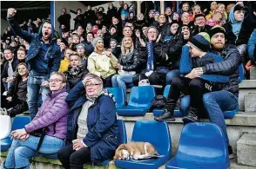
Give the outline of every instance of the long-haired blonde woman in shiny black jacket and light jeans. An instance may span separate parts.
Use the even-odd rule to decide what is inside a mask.
[[[121,43],[121,55],[115,68],[118,69],[118,75],[111,78],[113,87],[124,89],[126,98],[126,84],[132,82],[132,77],[142,70],[140,66],[139,52],[134,49],[131,37],[125,36]]]

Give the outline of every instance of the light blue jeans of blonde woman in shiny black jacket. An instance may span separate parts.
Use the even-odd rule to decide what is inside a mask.
[[[134,75],[131,74],[124,74],[124,75],[113,75],[111,78],[112,86],[123,88],[126,100],[126,83],[132,82],[132,77]]]

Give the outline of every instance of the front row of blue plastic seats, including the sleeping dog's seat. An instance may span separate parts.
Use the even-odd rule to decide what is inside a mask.
[[[16,117],[12,130],[22,128],[30,122],[29,117]],[[125,123],[118,120],[119,144],[127,142]],[[148,132],[150,131],[150,132]],[[213,141],[214,140],[214,141]],[[172,140],[169,127],[165,122],[139,120],[136,122],[131,141],[151,142],[162,157],[148,160],[115,160],[115,166],[124,169],[156,169],[166,164],[171,168],[207,168],[226,169],[230,166],[225,137],[219,127],[211,123],[192,123],[186,125],[180,135],[179,148],[172,158]],[[1,151],[7,151],[11,145],[10,138],[0,141]],[[41,156],[57,159],[56,154],[40,154]],[[172,158],[172,159],[171,159]],[[107,159],[99,166],[105,166]]]

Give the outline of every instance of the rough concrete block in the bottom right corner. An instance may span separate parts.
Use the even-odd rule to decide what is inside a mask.
[[[237,142],[238,164],[256,167],[256,133],[244,133]]]

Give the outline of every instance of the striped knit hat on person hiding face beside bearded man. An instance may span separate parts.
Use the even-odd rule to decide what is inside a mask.
[[[204,52],[210,49],[210,36],[206,32],[200,32],[198,35],[192,36],[189,42],[194,48]]]

